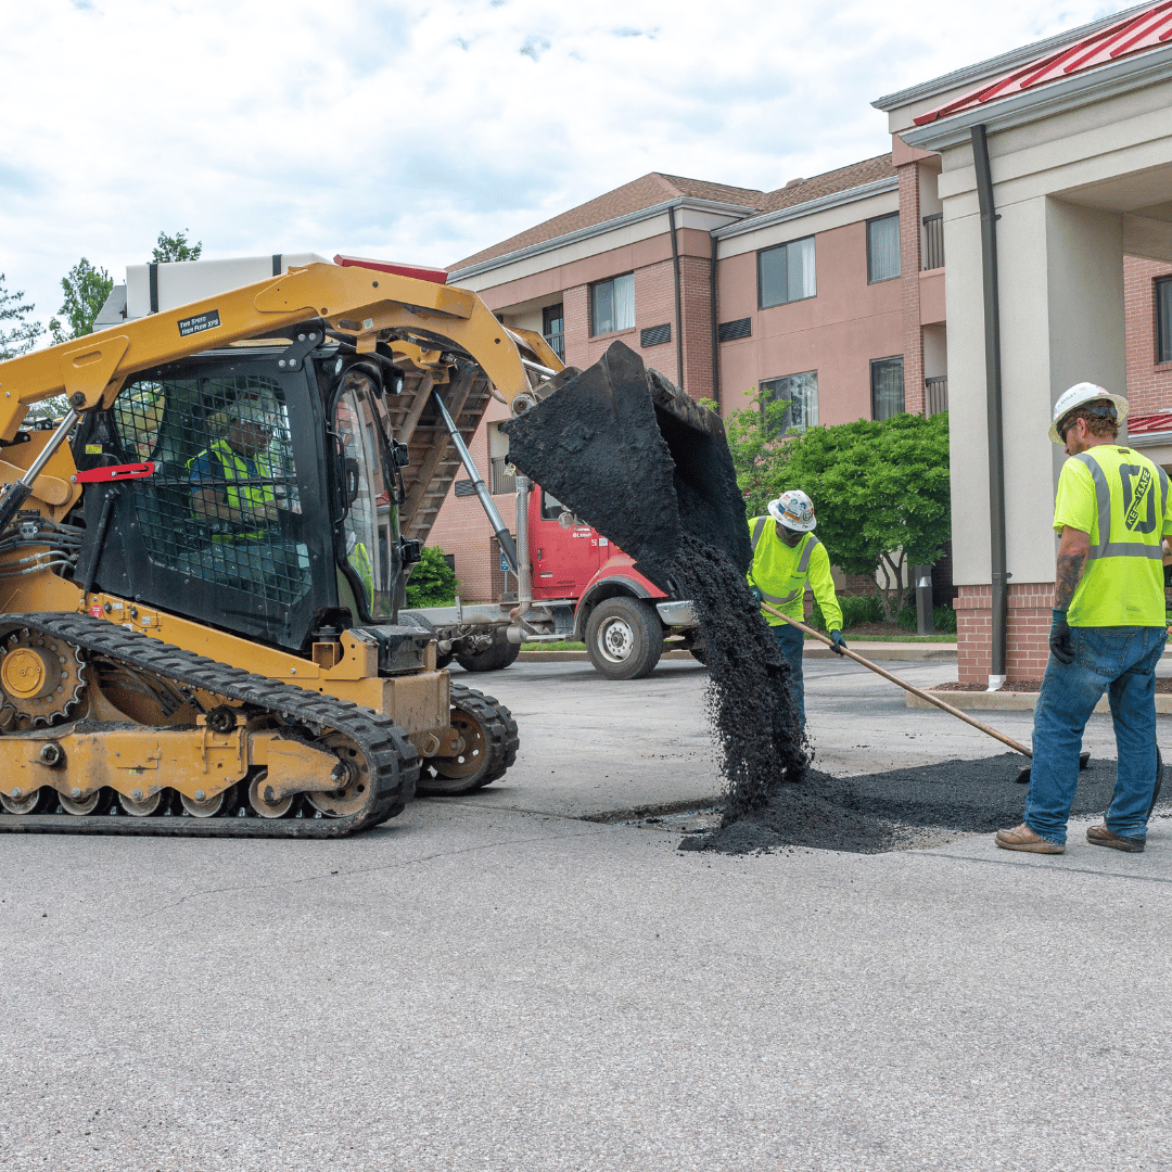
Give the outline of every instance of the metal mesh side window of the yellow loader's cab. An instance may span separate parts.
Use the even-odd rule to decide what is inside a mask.
[[[151,561],[284,605],[307,593],[288,411],[275,381],[141,380],[111,414],[122,457],[155,462],[154,476],[127,482]]]

